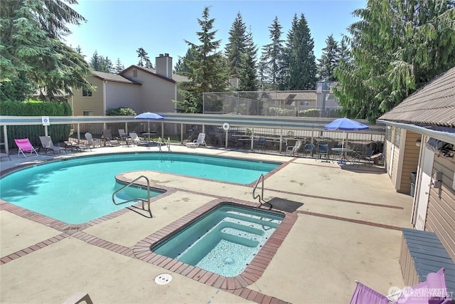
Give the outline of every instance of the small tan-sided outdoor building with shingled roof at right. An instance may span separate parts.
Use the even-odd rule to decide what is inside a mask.
[[[382,115],[385,164],[397,190],[414,196],[415,229],[432,231],[455,260],[455,68]]]

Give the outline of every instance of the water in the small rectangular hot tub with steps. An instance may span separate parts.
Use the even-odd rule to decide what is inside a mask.
[[[271,211],[222,204],[151,251],[233,277],[245,271],[283,218]]]

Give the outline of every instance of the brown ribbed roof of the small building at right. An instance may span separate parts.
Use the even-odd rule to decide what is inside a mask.
[[[455,67],[407,97],[380,120],[455,127]]]

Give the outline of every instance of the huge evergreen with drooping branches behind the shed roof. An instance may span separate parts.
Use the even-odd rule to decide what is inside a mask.
[[[348,117],[374,122],[455,65],[455,1],[369,0],[354,11],[352,60],[336,68],[336,96]]]

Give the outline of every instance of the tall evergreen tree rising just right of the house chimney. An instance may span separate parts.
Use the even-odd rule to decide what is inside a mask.
[[[185,90],[179,90],[183,96],[183,102],[174,100],[183,112],[202,112],[203,93],[224,91],[227,85],[227,72],[223,67],[225,59],[217,52],[220,40],[214,40],[217,32],[212,30],[215,19],[209,19],[209,12],[210,9],[205,7],[202,19],[198,19],[201,30],[196,34],[200,44],[185,41],[193,50],[191,55],[194,56],[194,60],[185,59],[184,61],[192,72],[183,73],[190,80],[179,83],[185,88]]]

